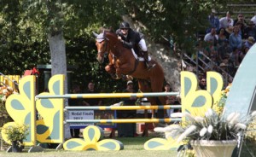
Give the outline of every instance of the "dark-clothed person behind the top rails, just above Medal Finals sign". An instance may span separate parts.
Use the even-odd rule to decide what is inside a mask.
[[[93,93],[99,93],[94,89],[94,85],[92,82],[88,84],[88,89],[85,91],[85,93],[93,94]],[[102,100],[99,98],[88,98],[85,99],[84,103],[86,106],[102,106]]]

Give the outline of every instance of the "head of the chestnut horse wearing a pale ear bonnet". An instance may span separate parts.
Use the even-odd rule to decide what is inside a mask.
[[[96,36],[97,60],[102,63],[104,61],[104,54],[108,53],[108,38],[105,37],[105,32],[100,34],[93,32],[93,34]]]

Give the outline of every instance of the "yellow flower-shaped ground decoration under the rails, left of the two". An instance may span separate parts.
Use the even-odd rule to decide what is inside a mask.
[[[102,140],[104,131],[96,125],[89,125],[84,129],[82,138],[73,138],[64,142],[65,150],[121,150],[122,142],[113,139]],[[102,140],[102,141],[100,141]]]

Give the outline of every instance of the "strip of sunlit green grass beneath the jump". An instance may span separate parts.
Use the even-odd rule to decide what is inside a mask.
[[[124,144],[124,149],[120,151],[66,151],[66,150],[55,150],[55,149],[44,149],[44,152],[39,153],[6,153],[5,151],[0,151],[0,157],[79,157],[79,156],[108,156],[108,157],[147,157],[147,156],[160,156],[160,157],[170,157],[177,156],[176,151],[166,150],[166,151],[148,151],[144,149],[144,142],[148,141],[153,137],[122,137],[116,138]]]

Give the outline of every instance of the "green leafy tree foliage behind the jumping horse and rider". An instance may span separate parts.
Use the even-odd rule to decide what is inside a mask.
[[[92,30],[100,26],[116,29],[122,15],[130,15],[147,38],[166,44],[162,37],[172,37],[181,49],[193,53],[195,33],[206,27],[210,10],[224,8],[225,3],[220,0],[3,0],[0,57],[4,60],[0,72],[21,75],[39,64],[50,64],[47,33],[61,30],[66,40],[67,65],[77,67],[72,69],[72,81],[85,89],[92,79],[99,90],[120,91],[125,83],[114,81],[105,73],[107,62],[99,65],[95,60]]]

